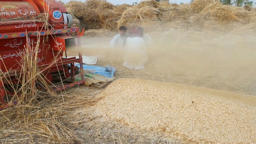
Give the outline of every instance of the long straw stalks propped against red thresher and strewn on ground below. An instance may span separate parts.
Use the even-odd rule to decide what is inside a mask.
[[[42,18],[45,18],[44,26],[48,30],[49,17]],[[41,44],[44,44],[44,41],[40,40],[48,40],[48,37],[38,36],[36,45],[32,42],[31,47],[28,44],[24,46],[23,54],[20,55],[22,61],[17,63],[21,71],[4,72],[4,68],[0,69],[1,80],[9,83],[9,86],[5,85],[4,88],[13,93],[4,99],[11,107],[0,111],[0,142],[3,144],[80,141],[74,128],[81,119],[72,112],[80,104],[90,104],[90,98],[52,92],[52,87],[55,86],[49,86],[43,75],[45,70],[37,67],[38,50]],[[10,76],[15,76],[19,83],[12,83]],[[18,103],[13,104],[15,101]]]

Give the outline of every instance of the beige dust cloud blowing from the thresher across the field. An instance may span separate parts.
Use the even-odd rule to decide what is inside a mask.
[[[168,30],[145,32],[148,46],[144,70],[122,66],[123,50],[111,49],[110,36],[82,38],[82,55],[98,56],[98,66],[117,68],[116,78],[143,78],[256,95],[256,34]],[[71,54],[72,52],[70,52]]]

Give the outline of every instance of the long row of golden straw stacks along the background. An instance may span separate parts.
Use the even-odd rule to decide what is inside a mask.
[[[75,4],[76,3],[76,4]],[[86,2],[70,1],[66,4],[68,12],[78,18],[82,27],[118,31],[118,27],[171,26],[189,30],[214,30],[210,25],[228,28],[229,24],[239,22],[250,25],[255,23],[255,11],[248,6],[239,8],[227,6],[219,0],[195,0],[191,4],[170,4],[167,1],[144,0],[137,5],[122,4],[114,6],[102,0]],[[179,26],[175,26],[179,24]],[[237,26],[237,27],[240,27]],[[236,29],[236,27],[232,27]]]

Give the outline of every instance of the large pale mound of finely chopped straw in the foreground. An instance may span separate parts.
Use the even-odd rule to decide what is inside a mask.
[[[194,143],[254,143],[256,107],[164,82],[120,79],[95,105],[97,114],[132,129]],[[217,93],[215,93],[217,94]],[[232,94],[232,93],[230,93]]]

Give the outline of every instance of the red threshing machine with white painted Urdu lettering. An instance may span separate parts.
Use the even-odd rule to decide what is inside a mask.
[[[33,49],[38,44],[37,66],[52,83],[55,79],[69,80],[54,91],[84,84],[82,56],[63,58],[69,48],[80,46],[78,27],[72,27],[73,18],[63,4],[56,0],[0,0],[0,69],[2,73],[19,72],[24,48]],[[77,34],[75,37],[70,33]],[[74,63],[80,63],[81,80],[75,81]],[[68,66],[70,64],[70,66]],[[18,82],[10,73],[12,84]],[[8,106],[6,96],[10,92],[6,80],[0,80],[0,109]]]

